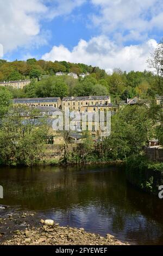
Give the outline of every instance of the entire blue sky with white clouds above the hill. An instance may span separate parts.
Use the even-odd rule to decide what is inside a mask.
[[[0,11],[8,60],[144,70],[163,32],[162,0],[0,0]]]

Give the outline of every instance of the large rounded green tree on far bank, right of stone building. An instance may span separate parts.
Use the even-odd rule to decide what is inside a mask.
[[[155,137],[155,118],[146,105],[126,106],[111,121],[111,135],[105,139],[104,153],[110,159],[140,154]]]

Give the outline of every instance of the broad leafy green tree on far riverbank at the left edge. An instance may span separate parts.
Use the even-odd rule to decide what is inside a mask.
[[[33,166],[40,161],[49,124],[33,108],[11,109],[1,122],[0,163]]]

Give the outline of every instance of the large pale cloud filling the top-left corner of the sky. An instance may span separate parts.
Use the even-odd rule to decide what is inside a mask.
[[[40,46],[47,43],[48,32],[41,21],[53,19],[83,4],[85,0],[0,0],[0,43],[4,53],[18,46]]]

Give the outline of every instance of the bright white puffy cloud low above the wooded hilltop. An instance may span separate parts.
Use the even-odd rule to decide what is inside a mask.
[[[66,60],[67,62],[85,63],[99,66],[106,71],[121,68],[123,71],[145,70],[146,60],[156,47],[154,39],[148,40],[141,45],[120,47],[111,42],[108,37],[101,35],[90,41],[80,40],[79,44],[68,50],[63,45],[54,46],[49,53],[42,56],[45,60]]]

